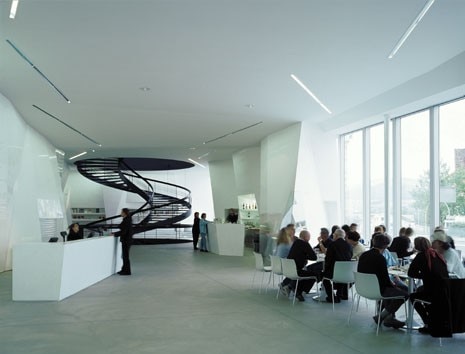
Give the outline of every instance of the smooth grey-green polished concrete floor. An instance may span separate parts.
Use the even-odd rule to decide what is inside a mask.
[[[193,252],[190,244],[134,246],[133,275],[114,275],[60,302],[13,302],[0,274],[0,353],[461,353],[465,335],[437,339],[382,328],[373,305],[310,297],[292,306],[252,289],[254,260]],[[85,260],[83,260],[85,262]]]

